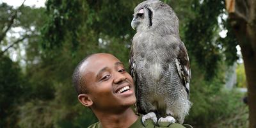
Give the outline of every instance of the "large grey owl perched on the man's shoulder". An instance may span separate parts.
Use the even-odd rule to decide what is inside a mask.
[[[129,66],[136,84],[138,112],[143,122],[184,122],[189,102],[190,67],[179,37],[179,19],[161,1],[149,0],[134,9]]]

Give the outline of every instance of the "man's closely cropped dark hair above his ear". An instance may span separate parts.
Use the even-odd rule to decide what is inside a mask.
[[[73,72],[72,81],[78,95],[82,93],[87,93],[86,79],[83,77],[83,72],[81,72],[81,66],[83,65],[84,61],[86,61],[92,55],[93,54],[90,54],[82,61],[80,61]]]

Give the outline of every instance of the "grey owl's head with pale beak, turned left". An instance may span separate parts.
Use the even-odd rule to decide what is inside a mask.
[[[133,16],[131,26],[136,30],[154,28],[163,22],[172,22],[165,25],[178,26],[179,29],[179,19],[172,8],[158,0],[148,0],[138,4],[134,8]]]

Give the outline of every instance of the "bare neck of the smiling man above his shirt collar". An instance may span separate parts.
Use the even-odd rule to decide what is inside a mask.
[[[138,115],[131,108],[123,113],[97,113],[96,116],[103,128],[127,128],[138,119]]]

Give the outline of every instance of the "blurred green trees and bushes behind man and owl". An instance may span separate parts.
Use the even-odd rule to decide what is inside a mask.
[[[109,52],[128,68],[141,0],[0,0],[0,127],[82,128],[97,122],[77,100],[72,72]],[[248,127],[241,47],[225,1],[165,0],[180,20],[191,63],[193,106],[184,124]]]

